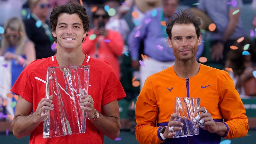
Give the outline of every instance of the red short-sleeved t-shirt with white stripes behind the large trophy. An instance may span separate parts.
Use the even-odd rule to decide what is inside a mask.
[[[93,98],[94,108],[100,113],[105,104],[126,96],[113,68],[107,62],[86,55],[82,65],[90,65],[88,94]],[[33,112],[45,97],[47,67],[59,67],[55,56],[31,62],[11,89],[33,104]],[[86,121],[86,132],[82,134],[46,139],[42,134],[43,122],[31,133],[29,143],[104,143],[104,135],[89,120]]]

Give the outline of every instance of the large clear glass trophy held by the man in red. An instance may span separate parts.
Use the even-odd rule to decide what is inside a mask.
[[[45,97],[54,110],[44,119],[43,138],[85,132],[86,114],[79,106],[80,96],[88,94],[89,65],[48,67]]]

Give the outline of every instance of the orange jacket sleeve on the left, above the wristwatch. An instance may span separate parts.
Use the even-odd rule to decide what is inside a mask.
[[[135,127],[136,139],[139,143],[162,143],[158,136],[159,127],[156,127],[158,106],[153,93],[150,77],[145,84],[136,101],[135,116],[137,126]]]

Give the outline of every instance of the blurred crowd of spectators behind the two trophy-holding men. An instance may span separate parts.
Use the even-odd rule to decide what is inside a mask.
[[[110,63],[128,101],[136,99],[149,75],[174,64],[165,22],[180,8],[192,7],[196,8],[194,12],[201,18],[202,25],[206,25],[200,31],[202,44],[198,47],[197,60],[228,71],[241,96],[256,95],[256,1],[76,1],[90,16],[83,53]],[[67,0],[0,0],[0,26],[4,29],[0,27],[0,56],[4,61],[11,61],[11,86],[30,62],[56,53],[48,20],[51,9],[65,2]],[[0,100],[4,97],[2,93]],[[11,97],[15,101],[15,96]],[[3,106],[3,101],[0,102]],[[6,110],[0,112],[7,114]]]

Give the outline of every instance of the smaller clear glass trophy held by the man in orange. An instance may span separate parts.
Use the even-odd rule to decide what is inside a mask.
[[[182,122],[182,130],[175,131],[173,138],[195,136],[199,134],[199,127],[193,119],[199,114],[195,111],[200,108],[200,98],[194,97],[175,97],[175,113],[181,118],[175,118],[176,121]]]

